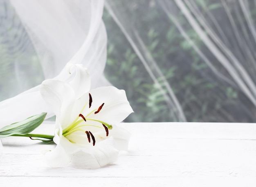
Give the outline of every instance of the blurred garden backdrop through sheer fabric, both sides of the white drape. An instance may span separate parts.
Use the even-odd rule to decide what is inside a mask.
[[[106,0],[103,21],[127,122],[256,122],[256,0]],[[45,79],[37,53],[0,0],[0,101]]]

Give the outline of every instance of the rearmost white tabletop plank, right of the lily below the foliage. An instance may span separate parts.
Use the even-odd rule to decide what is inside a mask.
[[[254,139],[255,123],[124,123],[136,137]],[[155,135],[155,136],[154,136]],[[152,138],[153,138],[152,137]]]

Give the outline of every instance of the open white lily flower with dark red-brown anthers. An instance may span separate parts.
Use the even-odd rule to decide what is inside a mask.
[[[72,81],[48,79],[40,87],[56,114],[57,146],[45,153],[47,164],[67,165],[77,152],[85,153],[84,159],[93,157],[100,167],[115,162],[117,149],[126,149],[129,139],[129,133],[115,124],[133,112],[125,91],[113,86],[90,90],[90,76],[83,66],[68,63],[66,67],[69,72],[76,69]]]

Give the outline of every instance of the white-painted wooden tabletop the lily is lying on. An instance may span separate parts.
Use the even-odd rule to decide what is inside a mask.
[[[0,186],[256,186],[254,123],[122,125],[132,132],[130,151],[99,169],[49,168],[40,151],[54,145],[25,137],[4,138]],[[42,128],[50,129],[49,124],[40,132]]]

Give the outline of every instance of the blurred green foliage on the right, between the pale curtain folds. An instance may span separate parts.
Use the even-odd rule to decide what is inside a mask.
[[[196,3],[199,9],[202,9],[202,14],[205,14],[205,8],[211,11],[218,11],[221,8],[220,2],[196,0]],[[134,15],[135,17],[141,18],[139,24],[134,23],[135,28],[180,101],[187,121],[255,121],[251,110],[254,106],[243,92],[213,74],[173,22],[168,20],[166,15],[162,15],[164,12],[159,10],[159,7],[154,4],[152,6],[152,3],[144,0],[137,1],[137,4],[143,4],[139,7],[144,8],[145,14],[140,15],[139,9],[133,12],[133,15],[138,14]],[[159,20],[163,18],[166,20]],[[188,24],[182,14],[177,19],[180,23]],[[114,86],[126,90],[128,100],[135,111],[126,121],[177,120],[172,115],[173,111],[168,108],[162,92],[154,84],[137,54],[107,11],[104,11],[103,20],[108,32],[105,75]],[[205,55],[211,55],[200,36],[192,28],[187,29],[186,34]],[[215,57],[212,57],[211,61],[217,64],[218,71],[229,77]],[[161,77],[158,79],[162,84]],[[243,108],[241,102],[246,103],[248,108]]]

